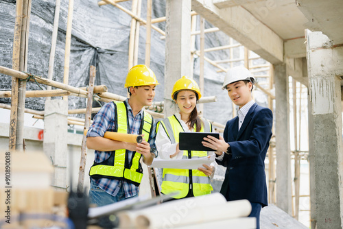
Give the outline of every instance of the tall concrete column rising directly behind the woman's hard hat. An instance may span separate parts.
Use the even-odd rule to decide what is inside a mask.
[[[191,69],[191,0],[167,0],[165,25],[165,117],[173,115],[171,92],[182,75],[192,77]]]

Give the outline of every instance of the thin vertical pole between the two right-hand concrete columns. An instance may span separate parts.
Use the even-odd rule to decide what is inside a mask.
[[[294,217],[299,218],[299,194],[300,194],[300,158],[298,152],[298,128],[296,117],[296,80],[292,78],[293,91],[293,124],[294,124]]]

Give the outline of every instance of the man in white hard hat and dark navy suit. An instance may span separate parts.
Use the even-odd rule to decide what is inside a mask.
[[[234,67],[226,73],[223,89],[239,106],[238,116],[226,123],[224,138],[208,136],[202,142],[217,152],[217,162],[226,167],[222,193],[226,200],[249,200],[249,217],[257,218],[268,205],[264,160],[272,136],[272,111],[252,100],[255,78],[244,67]]]

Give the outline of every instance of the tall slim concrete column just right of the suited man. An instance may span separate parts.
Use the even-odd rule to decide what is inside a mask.
[[[275,136],[276,136],[276,206],[292,215],[291,153],[289,144],[289,96],[286,64],[274,65]]]

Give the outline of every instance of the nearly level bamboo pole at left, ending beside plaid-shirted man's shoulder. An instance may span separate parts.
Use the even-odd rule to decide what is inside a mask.
[[[107,91],[107,87],[104,85],[95,86],[94,93],[104,93]],[[86,87],[80,88],[84,91],[87,91],[88,89]],[[50,90],[50,91],[26,91],[25,97],[31,98],[31,97],[56,97],[56,96],[62,96],[62,95],[75,95],[78,96],[75,93],[71,93],[69,91],[65,91],[62,89],[58,90]],[[0,98],[10,98],[12,97],[11,91],[0,91]],[[83,96],[82,96],[83,97]],[[86,98],[86,96],[84,96]]]

